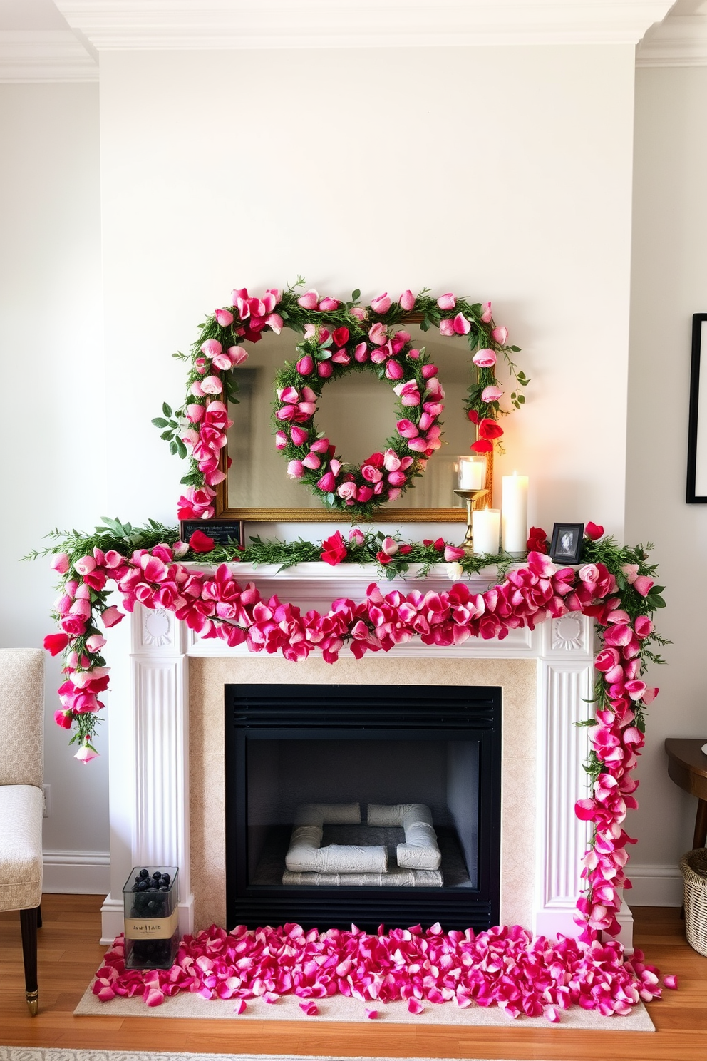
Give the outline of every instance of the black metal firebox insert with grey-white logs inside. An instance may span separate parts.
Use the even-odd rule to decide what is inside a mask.
[[[496,924],[500,699],[487,686],[227,685],[228,926]],[[299,834],[315,847],[294,865]]]

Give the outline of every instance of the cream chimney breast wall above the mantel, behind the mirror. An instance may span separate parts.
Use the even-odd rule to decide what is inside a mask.
[[[621,535],[633,81],[625,46],[105,52],[111,511],[174,518],[171,352],[302,273],[492,298],[533,378],[498,473],[530,474],[534,522]]]

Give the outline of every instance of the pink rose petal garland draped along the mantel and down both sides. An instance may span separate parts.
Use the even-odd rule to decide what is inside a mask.
[[[340,536],[332,536],[328,544],[332,547],[324,553],[330,562],[337,562],[342,550],[346,556]],[[231,646],[245,643],[253,653],[281,653],[291,661],[319,649],[328,663],[334,663],[347,643],[361,659],[368,651],[389,651],[413,637],[441,646],[463,644],[471,637],[500,640],[511,629],[533,629],[547,619],[581,612],[596,620],[603,647],[596,661],[600,710],[590,733],[591,792],[576,807],[578,816],[594,827],[583,859],[586,892],[578,902],[578,923],[586,942],[596,939],[599,929],[618,933],[622,891],[631,887],[623,870],[625,848],[634,842],[622,822],[626,810],[637,805],[633,793],[638,782],[631,772],[643,745],[642,710],[657,693],[640,677],[643,656],[652,655],[646,643],[654,638],[653,623],[641,609],[658,603],[651,596],[653,579],[640,574],[638,564],[623,564],[620,590],[603,562],[585,563],[579,570],[558,568],[547,555],[531,552],[527,567],[510,571],[484,593],[473,593],[461,581],[444,592],[384,593],[373,582],[364,601],[341,597],[323,615],[315,610],[303,615],[297,605],[282,603],[277,594],[263,598],[253,582],[243,588],[227,563],[199,571],[179,562],[175,550],[187,547],[160,543],[129,556],[94,547],[73,562],[66,553],[54,554],[53,567],[67,576],[55,604],[63,632],[50,634],[46,647],[53,654],[66,651],[67,680],[59,689],[63,709],[55,718],[67,729],[76,726],[76,759],[88,762],[96,754],[92,736],[103,708],[98,694],[108,684],[108,668],[99,651],[105,642],[93,615],[101,613],[106,626],[123,618],[107,605],[108,581],[117,584],[126,611],[132,611],[136,602],[164,608],[204,638],[220,638]],[[404,547],[386,538],[381,562]]]

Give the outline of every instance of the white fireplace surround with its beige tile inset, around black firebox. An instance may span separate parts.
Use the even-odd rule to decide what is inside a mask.
[[[245,569],[245,564],[243,568]],[[267,596],[279,592],[303,610],[335,596],[358,598],[374,573],[343,564],[301,564],[285,571],[243,570]],[[489,578],[469,580],[473,592]],[[393,579],[390,589],[442,590],[446,573]],[[421,642],[334,665],[312,656],[300,663],[250,655],[193,636],[174,615],[137,605],[130,626],[111,629],[110,880],[102,939],[122,930],[122,886],[131,866],[179,866],[180,929],[225,924],[227,685],[281,685],[291,694],[316,685],[384,685],[409,698],[423,685],[466,692],[501,690],[500,901],[498,918],[543,935],[578,932],[581,858],[587,825],[573,813],[586,796],[587,700],[594,681],[591,620],[548,620],[535,630],[511,630],[503,641],[470,639],[457,646]],[[387,697],[386,697],[387,698]],[[129,710],[126,707],[131,705]],[[412,794],[413,796],[414,794]],[[407,799],[407,796],[405,797]],[[363,794],[361,803],[371,797]],[[361,810],[361,814],[364,811]],[[439,890],[439,889],[437,889]],[[317,892],[320,894],[320,892]],[[323,894],[323,892],[321,893]],[[289,920],[286,918],[285,920]],[[387,919],[386,919],[387,920]],[[631,940],[625,907],[622,941]]]

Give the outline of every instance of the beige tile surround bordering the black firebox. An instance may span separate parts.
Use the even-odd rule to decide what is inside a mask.
[[[226,923],[224,685],[499,685],[502,690],[501,924],[530,927],[535,865],[534,659],[367,658],[300,663],[265,657],[189,660],[191,877],[195,930]]]

